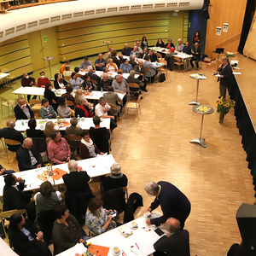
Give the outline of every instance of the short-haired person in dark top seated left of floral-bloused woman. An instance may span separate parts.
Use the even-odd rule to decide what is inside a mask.
[[[77,243],[86,243],[90,237],[84,236],[84,230],[79,222],[72,214],[69,213],[65,205],[57,205],[54,207],[55,223],[52,230],[52,238],[54,243],[54,254],[75,246]]]

